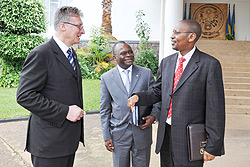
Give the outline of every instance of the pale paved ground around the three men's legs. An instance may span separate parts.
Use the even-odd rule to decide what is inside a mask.
[[[31,167],[30,154],[24,152],[27,121],[0,123],[0,167]],[[153,126],[153,139],[156,125]],[[112,167],[112,154],[106,151],[98,114],[85,115],[85,141],[76,153],[75,167]],[[150,167],[159,167],[159,156],[152,145]],[[207,162],[205,167],[250,166],[250,116],[227,115],[226,155]]]

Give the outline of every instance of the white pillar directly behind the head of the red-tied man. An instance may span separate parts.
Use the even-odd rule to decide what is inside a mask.
[[[183,19],[183,6],[183,0],[161,0],[160,61],[176,52],[172,49],[170,36],[175,24]]]

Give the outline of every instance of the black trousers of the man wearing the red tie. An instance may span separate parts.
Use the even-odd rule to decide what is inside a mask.
[[[166,123],[165,135],[160,151],[161,167],[202,167],[201,166],[183,166],[174,163],[172,156],[171,125]]]

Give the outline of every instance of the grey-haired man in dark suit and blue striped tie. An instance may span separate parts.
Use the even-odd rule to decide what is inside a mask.
[[[55,35],[27,56],[17,102],[29,110],[26,150],[35,167],[72,167],[83,141],[82,77],[71,48],[84,34],[82,12],[64,6],[55,13]]]

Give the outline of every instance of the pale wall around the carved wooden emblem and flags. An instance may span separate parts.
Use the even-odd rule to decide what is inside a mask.
[[[208,3],[207,0],[184,0],[189,11],[190,3]],[[250,41],[250,0],[210,0],[209,3],[228,3],[230,13],[233,14],[235,4],[235,39],[237,41]],[[188,13],[188,12],[187,12]]]

